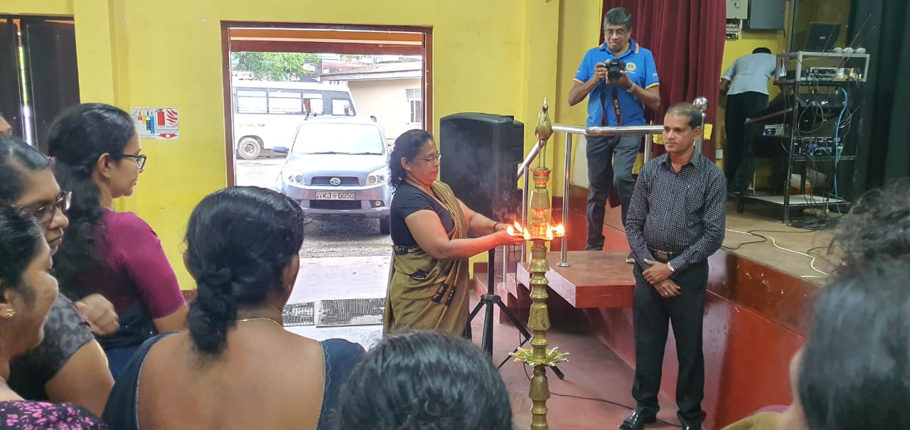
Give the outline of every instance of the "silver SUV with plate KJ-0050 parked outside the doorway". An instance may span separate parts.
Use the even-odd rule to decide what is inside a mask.
[[[359,117],[316,118],[298,125],[278,174],[278,191],[298,201],[314,219],[379,218],[389,235],[389,149],[382,128]]]

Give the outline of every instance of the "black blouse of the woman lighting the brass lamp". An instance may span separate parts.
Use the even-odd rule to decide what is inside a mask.
[[[447,232],[450,232],[452,228],[455,228],[455,222],[452,221],[452,215],[445,206],[440,205],[440,202],[436,201],[435,198],[428,195],[420,188],[410,185],[407,182],[402,182],[401,185],[395,189],[395,195],[392,196],[392,206],[389,211],[389,215],[391,215],[390,221],[393,244],[407,248],[417,246],[417,241],[415,241],[414,236],[410,234],[410,229],[408,228],[408,225],[405,224],[404,219],[407,218],[408,215],[424,209],[433,211],[436,215],[440,215],[442,228],[445,228]]]

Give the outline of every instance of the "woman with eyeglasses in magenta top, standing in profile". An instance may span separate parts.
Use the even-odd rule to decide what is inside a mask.
[[[133,195],[146,164],[133,119],[112,105],[69,107],[48,133],[60,185],[73,192],[57,278],[71,296],[104,295],[120,329],[99,336],[116,379],[148,338],[187,327],[177,276],[152,228],[136,214],[116,212],[114,200]]]

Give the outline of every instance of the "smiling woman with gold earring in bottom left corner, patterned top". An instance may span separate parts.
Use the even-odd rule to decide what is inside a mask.
[[[25,400],[6,382],[10,360],[45,337],[45,320],[57,297],[51,249],[35,218],[0,204],[0,428],[106,429],[82,405]]]

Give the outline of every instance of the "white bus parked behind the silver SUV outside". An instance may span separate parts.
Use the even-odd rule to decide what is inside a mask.
[[[308,118],[357,115],[347,85],[239,79],[232,84],[234,147],[245,160],[290,146],[297,126]]]

